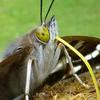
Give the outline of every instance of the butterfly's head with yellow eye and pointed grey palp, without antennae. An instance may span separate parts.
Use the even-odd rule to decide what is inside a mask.
[[[43,44],[48,43],[50,40],[54,40],[57,34],[57,23],[54,16],[48,23],[43,23],[35,31],[36,39]]]

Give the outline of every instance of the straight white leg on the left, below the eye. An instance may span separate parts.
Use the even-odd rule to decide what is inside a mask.
[[[38,72],[35,70],[37,65],[35,62],[35,58],[33,59],[33,57],[29,57],[27,59],[27,65],[26,65],[26,82],[25,82],[25,88],[24,88],[24,93],[21,94],[20,96],[17,96],[16,98],[14,98],[13,100],[30,100],[30,92],[32,92],[32,90],[34,90],[35,88],[35,78],[38,75]],[[34,71],[35,71],[35,75],[33,76],[33,67],[34,67]]]

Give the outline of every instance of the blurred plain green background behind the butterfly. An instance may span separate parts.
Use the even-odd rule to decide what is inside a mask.
[[[40,24],[40,0],[0,0],[0,52],[16,37]],[[45,16],[51,0],[43,0]],[[60,35],[100,37],[100,0],[55,0],[48,20],[56,16]]]

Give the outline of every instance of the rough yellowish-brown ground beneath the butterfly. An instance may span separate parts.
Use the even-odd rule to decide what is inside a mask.
[[[95,72],[100,89],[100,70]],[[33,100],[96,100],[96,91],[89,73],[80,75],[81,79],[90,86],[84,88],[74,77],[59,81],[54,85],[44,85]]]

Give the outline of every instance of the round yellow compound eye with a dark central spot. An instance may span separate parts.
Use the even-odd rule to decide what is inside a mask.
[[[46,27],[39,27],[35,35],[37,39],[42,43],[47,43],[50,39],[50,33]]]

